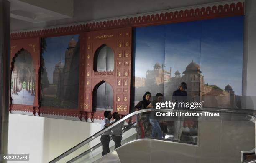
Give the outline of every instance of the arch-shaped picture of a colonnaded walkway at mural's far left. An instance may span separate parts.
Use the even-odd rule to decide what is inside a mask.
[[[28,51],[21,49],[12,62],[12,104],[33,105],[35,86],[33,57]]]

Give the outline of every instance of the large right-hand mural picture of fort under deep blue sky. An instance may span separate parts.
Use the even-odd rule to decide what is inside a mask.
[[[243,16],[137,27],[134,47],[135,104],[146,91],[171,100],[184,81],[191,101],[241,107]]]

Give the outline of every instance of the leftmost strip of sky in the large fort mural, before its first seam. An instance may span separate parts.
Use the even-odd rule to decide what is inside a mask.
[[[135,76],[146,77],[146,71],[157,62],[164,63],[164,25],[140,27],[134,30]]]

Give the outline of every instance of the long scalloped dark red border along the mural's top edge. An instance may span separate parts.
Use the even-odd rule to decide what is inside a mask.
[[[49,37],[57,35],[71,35],[80,32],[105,30],[120,27],[138,27],[147,25],[158,25],[173,22],[187,22],[193,20],[204,20],[218,17],[228,17],[244,14],[244,2],[225,5],[214,5],[212,7],[201,7],[195,9],[184,9],[161,14],[152,14],[138,17],[130,17],[115,20],[86,23],[68,27],[56,27],[45,30],[12,33],[11,39],[22,39],[28,37]]]

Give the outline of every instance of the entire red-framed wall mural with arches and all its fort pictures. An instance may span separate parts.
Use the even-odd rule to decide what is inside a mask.
[[[206,107],[241,108],[243,16],[238,15],[244,15],[243,2],[221,2],[14,32],[10,48],[12,95],[9,110],[35,116],[57,115],[64,119],[67,116],[81,121],[102,119],[102,113],[93,109],[97,105],[93,104],[92,96],[94,86],[105,81],[105,75],[117,77],[113,82],[106,81],[116,87],[110,99],[113,106],[108,108],[113,107],[113,111],[121,114],[133,111],[133,104],[142,99],[145,91],[153,96],[160,92],[164,100],[172,99],[172,92],[182,81],[188,85],[189,100],[205,101]],[[133,30],[126,33],[126,28]],[[105,34],[108,29],[111,35]],[[94,62],[92,57],[100,46],[108,53],[106,46],[114,37],[116,40],[111,47],[116,69],[108,62],[113,57],[99,54],[106,57],[106,62],[102,63],[101,60]],[[22,63],[19,58],[22,53],[30,54],[32,60],[23,59]],[[133,61],[128,60],[130,57]],[[29,71],[25,68],[27,62],[31,62]],[[96,63],[99,63],[97,67],[93,65]],[[232,68],[233,64],[236,68]]]

